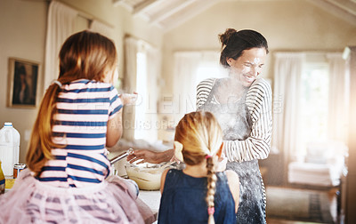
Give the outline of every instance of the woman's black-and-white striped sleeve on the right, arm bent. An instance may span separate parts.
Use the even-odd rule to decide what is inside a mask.
[[[256,79],[247,92],[246,104],[252,118],[252,131],[246,140],[223,141],[229,161],[264,159],[270,153],[271,85],[263,79]]]

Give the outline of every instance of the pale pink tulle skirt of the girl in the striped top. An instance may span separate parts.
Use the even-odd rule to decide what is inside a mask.
[[[58,188],[20,172],[12,189],[0,196],[0,224],[117,223],[143,224],[136,184],[109,176],[85,188]]]

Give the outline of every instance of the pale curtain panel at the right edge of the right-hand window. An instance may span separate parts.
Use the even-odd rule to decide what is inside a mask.
[[[328,53],[328,139],[347,143],[349,74],[342,53]]]

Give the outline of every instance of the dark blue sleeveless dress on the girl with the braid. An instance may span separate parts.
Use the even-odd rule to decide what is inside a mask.
[[[236,223],[235,202],[225,172],[217,172],[216,176],[215,224]],[[206,184],[206,178],[194,178],[182,170],[169,170],[159,205],[158,224],[206,224]]]

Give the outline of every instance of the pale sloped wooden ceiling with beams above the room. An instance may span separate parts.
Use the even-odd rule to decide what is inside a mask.
[[[125,7],[134,16],[168,31],[219,2],[248,0],[112,0],[114,6]],[[251,1],[251,0],[249,0]],[[255,0],[272,1],[272,0]],[[281,1],[281,0],[279,0]],[[283,0],[293,1],[293,0]],[[298,1],[298,0],[297,0]],[[344,20],[356,21],[356,0],[306,0]]]

